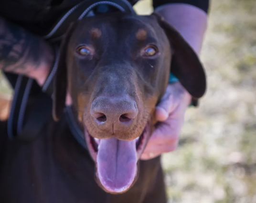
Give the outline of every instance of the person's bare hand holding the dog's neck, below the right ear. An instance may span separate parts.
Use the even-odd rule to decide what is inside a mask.
[[[191,95],[180,82],[168,85],[156,107],[155,116],[159,122],[141,155],[141,160],[149,160],[177,148],[184,115],[190,102]]]

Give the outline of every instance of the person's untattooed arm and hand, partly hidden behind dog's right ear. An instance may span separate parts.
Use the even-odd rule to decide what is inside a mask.
[[[206,12],[194,6],[180,3],[164,5],[155,11],[159,12],[167,22],[181,33],[197,54],[200,53],[207,25]],[[164,96],[156,107],[155,117],[158,125],[152,132],[141,156],[142,160],[155,158],[177,148],[184,115],[191,103],[191,98],[192,96],[180,82],[168,85]]]

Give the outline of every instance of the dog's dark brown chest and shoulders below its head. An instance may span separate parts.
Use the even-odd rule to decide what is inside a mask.
[[[135,185],[111,195],[97,185],[94,162],[65,122],[49,124],[34,142],[2,146],[0,203],[144,203],[160,166],[143,162]]]

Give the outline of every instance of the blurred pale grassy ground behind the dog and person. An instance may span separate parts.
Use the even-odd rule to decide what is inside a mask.
[[[141,0],[139,14],[152,12]],[[208,90],[162,157],[169,203],[256,203],[256,1],[212,0],[201,60]],[[0,119],[12,91],[0,75]]]

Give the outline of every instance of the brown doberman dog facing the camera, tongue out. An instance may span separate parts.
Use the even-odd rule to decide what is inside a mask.
[[[201,62],[157,14],[75,21],[62,41],[54,81],[57,122],[49,119],[32,142],[0,137],[0,202],[166,203],[160,157],[139,157],[170,70],[193,98],[203,96]],[[67,90],[88,150],[63,115]]]

